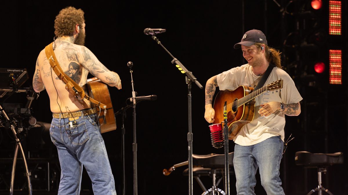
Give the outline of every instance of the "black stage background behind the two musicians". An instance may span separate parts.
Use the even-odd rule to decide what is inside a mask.
[[[144,35],[144,28],[166,28],[158,34],[161,43],[179,59],[205,86],[210,77],[240,66],[245,62],[240,50],[233,45],[244,32],[260,29],[267,37],[268,45],[282,53],[282,65],[293,77],[299,92],[302,113],[298,117],[286,117],[286,138],[295,137],[289,143],[280,168],[280,177],[286,194],[307,194],[317,186],[316,169],[295,166],[296,151],[313,153],[347,153],[347,4],[342,1],[342,36],[328,35],[328,1],[323,0],[320,10],[313,10],[309,0],[243,0],[243,1],[10,1],[1,6],[2,65],[1,68],[26,68],[31,85],[35,61],[39,52],[53,41],[54,19],[67,6],[81,8],[85,12],[86,46],[110,70],[122,80],[122,90],[109,87],[114,110],[126,105],[132,96],[128,61],[134,63],[133,79],[138,95],[158,96],[156,101],[137,104],[138,143],[138,192],[139,194],[187,194],[188,177],[182,175],[187,166],[177,168],[169,176],[162,170],[187,160],[188,156],[188,108],[185,75],[171,63],[171,57],[153,40]],[[277,3],[280,4],[278,7]],[[313,15],[303,12],[312,11]],[[302,14],[301,14],[302,13]],[[305,12],[306,13],[306,12]],[[319,33],[319,38],[316,35]],[[321,34],[320,34],[321,33]],[[323,36],[321,36],[323,35]],[[285,43],[285,44],[284,44]],[[313,44],[309,45],[308,44]],[[342,85],[329,85],[328,50],[342,49]],[[323,74],[314,72],[314,62],[323,61]],[[3,100],[1,100],[3,102]],[[25,94],[14,94],[6,102],[25,103]],[[50,123],[52,115],[45,91],[32,104],[33,116],[38,121]],[[121,118],[116,117],[118,129],[103,134],[106,149],[116,182],[118,194],[121,183]],[[204,119],[204,90],[192,85],[193,153],[223,153],[211,145],[208,123]],[[133,193],[133,123],[132,110],[127,111],[125,122],[125,151],[127,194]],[[15,142],[11,132],[1,130],[1,157],[13,158]],[[51,191],[55,194],[59,180],[59,164],[55,163],[56,149],[46,133],[29,130],[22,136],[25,154],[29,158],[52,160]],[[233,151],[234,143],[230,143]],[[346,155],[347,156],[347,155]],[[345,161],[347,162],[347,157]],[[2,164],[1,190],[9,183],[11,162]],[[45,164],[45,161],[42,162]],[[54,166],[55,164],[55,166]],[[41,165],[40,165],[41,166]],[[15,189],[25,188],[22,161],[17,162]],[[37,164],[29,164],[29,169]],[[45,166],[42,165],[42,169]],[[41,170],[42,170],[41,169]],[[42,172],[42,171],[41,171]],[[323,175],[323,186],[333,194],[348,193],[347,163],[328,168]],[[45,189],[45,174],[33,179],[34,194]],[[57,174],[57,175],[55,175]],[[47,175],[47,174],[46,174]],[[33,178],[33,176],[32,176]],[[231,174],[231,194],[235,194],[235,176]],[[201,178],[207,188],[211,178]],[[194,180],[194,194],[202,191]],[[220,185],[219,188],[223,189]],[[82,179],[85,194],[92,190],[86,172]],[[257,194],[266,194],[260,180]],[[18,192],[19,193],[19,192]],[[5,193],[6,194],[6,193]],[[45,193],[44,193],[45,194]],[[46,193],[47,194],[47,193]],[[91,194],[93,194],[91,192]]]

